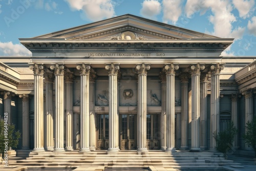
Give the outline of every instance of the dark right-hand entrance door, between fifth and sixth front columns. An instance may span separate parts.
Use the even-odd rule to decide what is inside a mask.
[[[146,115],[146,147],[148,149],[159,149],[159,115]]]

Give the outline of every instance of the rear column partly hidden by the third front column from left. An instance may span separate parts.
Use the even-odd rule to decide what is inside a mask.
[[[95,79],[97,79],[96,72],[90,72],[90,151],[95,150],[96,144],[96,137],[95,137],[95,111],[94,111],[94,104],[95,104]]]

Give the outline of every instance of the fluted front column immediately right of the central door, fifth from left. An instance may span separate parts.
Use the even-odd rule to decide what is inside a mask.
[[[138,124],[138,149],[137,152],[147,152],[146,148],[146,70],[150,70],[150,66],[142,63],[137,65],[138,71],[138,109],[137,109],[137,124]]]

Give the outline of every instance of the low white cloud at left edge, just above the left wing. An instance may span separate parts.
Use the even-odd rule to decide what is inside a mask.
[[[31,56],[32,53],[20,44],[9,42],[0,42],[1,56]]]

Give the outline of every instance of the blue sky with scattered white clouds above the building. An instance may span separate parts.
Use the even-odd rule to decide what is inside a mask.
[[[30,38],[133,14],[223,38],[224,56],[256,56],[255,0],[0,0],[0,56],[31,53]]]

